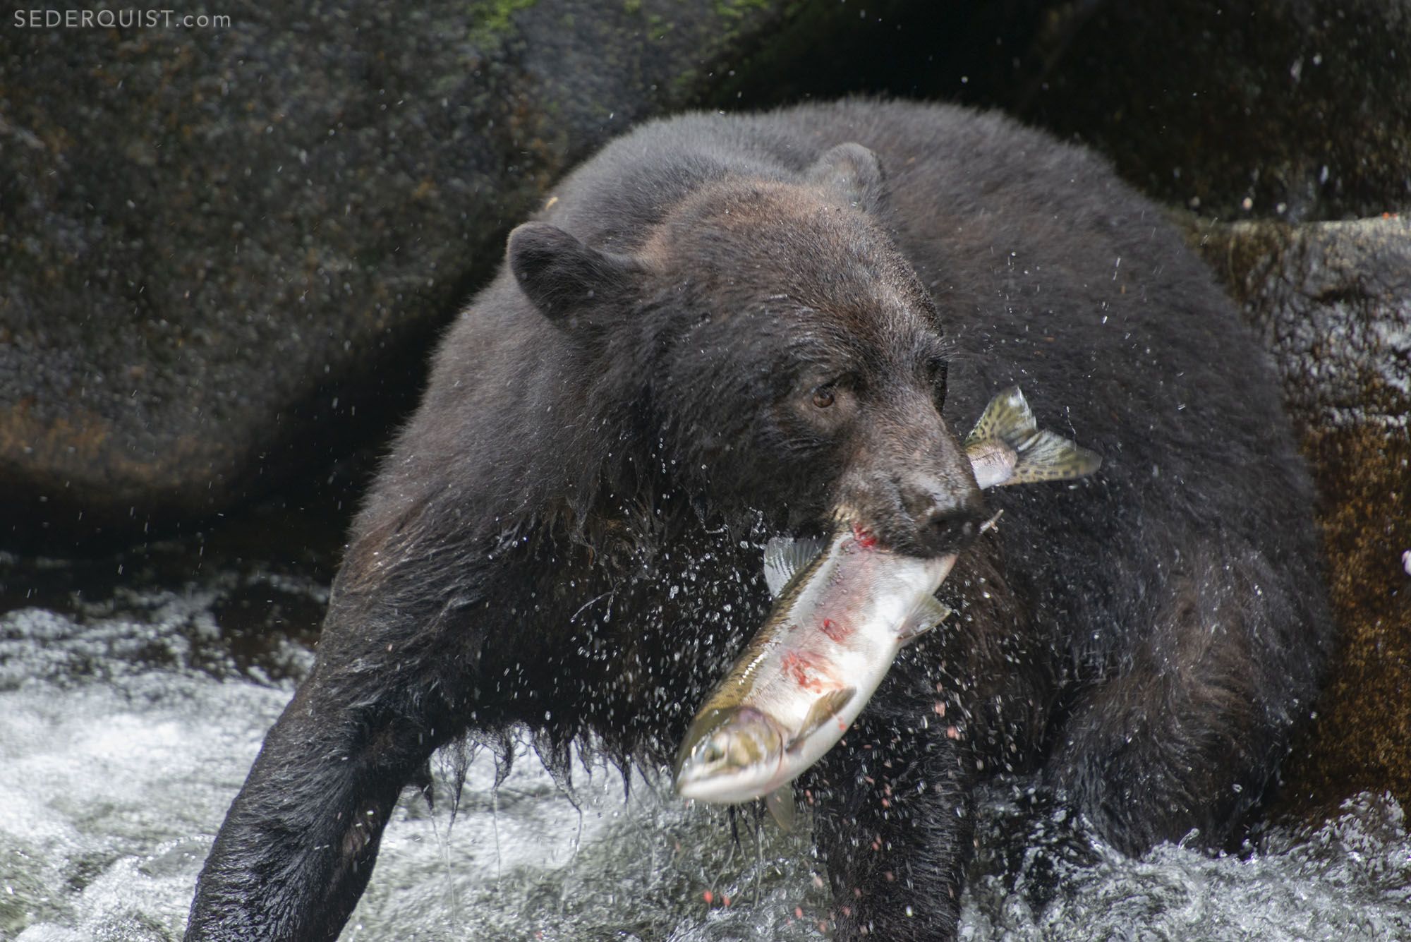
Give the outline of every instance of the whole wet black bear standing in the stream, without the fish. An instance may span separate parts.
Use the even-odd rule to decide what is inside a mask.
[[[1013,384],[1094,478],[981,496],[955,433]],[[648,124],[444,337],[186,938],[336,938],[467,732],[666,763],[766,613],[761,546],[844,503],[964,551],[952,623],[799,783],[837,938],[954,935],[996,771],[1129,852],[1219,845],[1331,643],[1312,502],[1260,344],[1082,149],[934,104]]]

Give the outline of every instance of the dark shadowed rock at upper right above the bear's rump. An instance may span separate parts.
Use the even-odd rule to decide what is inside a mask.
[[[1405,3],[1044,7],[989,100],[1094,144],[1149,196],[1226,220],[1411,206]]]

